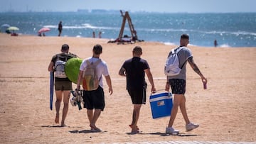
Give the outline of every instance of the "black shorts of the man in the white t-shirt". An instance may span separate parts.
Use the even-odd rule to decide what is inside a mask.
[[[102,87],[98,87],[94,91],[83,91],[82,96],[85,104],[84,108],[86,109],[101,109],[105,108],[105,96]]]

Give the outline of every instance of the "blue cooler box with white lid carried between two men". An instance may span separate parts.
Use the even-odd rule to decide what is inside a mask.
[[[173,106],[171,93],[152,94],[149,98],[153,118],[171,116]]]

